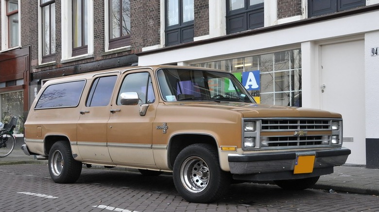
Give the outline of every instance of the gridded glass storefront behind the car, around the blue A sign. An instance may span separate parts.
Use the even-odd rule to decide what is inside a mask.
[[[236,74],[258,70],[260,90],[251,93],[259,96],[261,104],[302,106],[300,49],[191,65]]]

